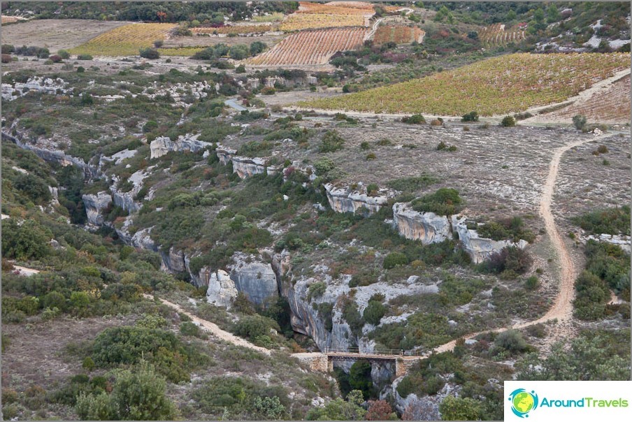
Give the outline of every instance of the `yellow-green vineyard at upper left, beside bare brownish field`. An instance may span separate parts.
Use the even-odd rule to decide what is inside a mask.
[[[175,24],[127,24],[111,29],[73,48],[71,54],[113,57],[138,55],[138,50],[141,48],[151,47],[156,40],[164,40],[167,32],[175,26]]]

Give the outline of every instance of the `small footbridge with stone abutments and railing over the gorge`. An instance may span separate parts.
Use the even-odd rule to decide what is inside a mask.
[[[395,376],[403,377],[408,370],[418,361],[426,358],[424,354],[404,354],[401,350],[386,349],[374,350],[371,353],[363,353],[359,349],[333,350],[326,349],[319,352],[295,353],[294,358],[306,363],[313,371],[333,372],[333,361],[359,361],[364,359],[369,362],[395,362]]]

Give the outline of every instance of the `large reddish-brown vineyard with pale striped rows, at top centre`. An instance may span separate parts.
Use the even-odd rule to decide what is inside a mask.
[[[323,65],[338,51],[359,48],[365,34],[364,28],[301,31],[253,57],[248,63],[263,66]]]

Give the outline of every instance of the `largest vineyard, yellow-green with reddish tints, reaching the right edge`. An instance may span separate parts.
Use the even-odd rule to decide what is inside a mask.
[[[464,115],[476,110],[483,116],[502,115],[563,101],[629,66],[629,53],[509,54],[299,106],[433,115]]]

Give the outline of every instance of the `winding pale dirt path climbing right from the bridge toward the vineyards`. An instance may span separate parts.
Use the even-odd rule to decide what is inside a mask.
[[[559,173],[559,162],[561,161],[561,157],[564,152],[570,150],[571,148],[584,145],[585,143],[591,143],[602,138],[608,138],[609,136],[612,136],[612,133],[604,133],[603,135],[594,136],[594,138],[576,140],[575,142],[563,145],[555,150],[551,163],[549,164],[549,175],[547,175],[542,196],[540,197],[540,216],[544,220],[547,235],[549,235],[551,243],[556,251],[557,259],[561,268],[559,277],[559,293],[557,293],[553,306],[546,314],[534,321],[527,321],[514,324],[510,327],[496,328],[494,330],[484,330],[468,334],[464,336],[465,340],[470,340],[482,333],[501,333],[505,330],[526,328],[538,323],[550,321],[552,319],[566,321],[573,317],[573,298],[575,297],[575,279],[577,278],[577,269],[575,268],[575,265],[573,265],[573,260],[570,259],[570,254],[568,253],[566,244],[557,229],[555,218],[551,212],[555,182],[557,180],[557,174]],[[457,340],[452,340],[451,342],[447,342],[439,347],[436,347],[433,349],[433,352],[442,353],[444,351],[451,351],[454,349],[456,344]]]

